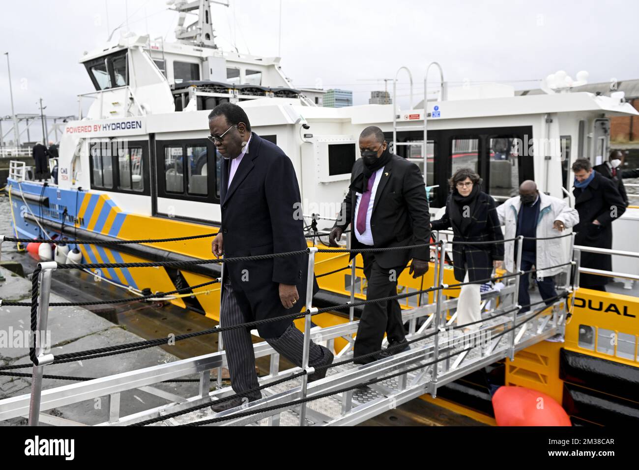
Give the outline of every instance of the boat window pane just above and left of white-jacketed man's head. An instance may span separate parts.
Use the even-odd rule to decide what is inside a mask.
[[[512,198],[519,194],[520,169],[519,156],[521,149],[513,136],[498,136],[489,139],[488,171],[490,189],[493,197]]]

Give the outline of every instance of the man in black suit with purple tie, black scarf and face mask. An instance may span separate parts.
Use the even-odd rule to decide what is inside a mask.
[[[359,138],[362,158],[353,164],[351,184],[329,242],[336,246],[351,224],[351,247],[382,248],[427,244],[430,214],[424,178],[417,165],[392,155],[379,127],[369,126]],[[366,299],[397,295],[397,278],[411,258],[410,274],[424,276],[428,270],[429,247],[362,253],[367,280]],[[351,255],[351,257],[354,255]],[[366,364],[389,354],[408,350],[399,302],[364,306],[355,338],[353,356],[381,350],[384,332],[389,348],[372,357],[356,360]]]

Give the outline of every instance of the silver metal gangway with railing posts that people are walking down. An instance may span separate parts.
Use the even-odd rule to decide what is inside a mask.
[[[270,357],[270,371],[259,378],[263,398],[243,403],[240,407],[215,413],[210,409],[218,400],[236,396],[229,386],[222,384],[222,367],[226,365],[226,352],[222,349],[203,356],[191,357],[166,364],[117,373],[83,382],[42,390],[43,369],[53,362],[45,354],[43,345],[31,355],[34,360],[31,394],[15,396],[0,401],[0,421],[29,416],[29,423],[40,421],[52,425],[82,425],[68,419],[56,418],[42,411],[72,405],[85,400],[108,397],[108,407],[103,426],[123,425],[355,425],[377,414],[393,409],[420,395],[429,393],[436,397],[438,388],[453,380],[479,370],[488,364],[509,357],[511,361],[519,350],[546,340],[555,334],[564,333],[569,317],[569,294],[578,286],[580,252],[574,250],[574,234],[571,237],[571,260],[560,265],[567,270],[566,282],[558,286],[558,295],[549,306],[543,302],[530,304],[530,311],[519,313],[518,286],[522,272],[521,255],[516,260],[518,269],[514,274],[500,276],[507,282],[501,290],[482,294],[483,315],[480,324],[454,325],[457,299],[445,299],[447,289],[463,285],[446,285],[443,273],[445,253],[449,243],[443,239],[432,244],[436,250],[434,285],[424,291],[397,295],[397,298],[433,292],[435,302],[403,311],[404,322],[408,322],[406,339],[410,350],[394,354],[385,359],[365,365],[353,364],[353,335],[357,333],[358,320],[330,327],[311,327],[312,316],[331,308],[312,307],[312,288],[307,292],[307,309],[298,315],[305,318],[305,349],[302,367],[279,370],[279,354],[268,343],[254,344],[257,357]],[[167,239],[168,240],[168,239]],[[516,242],[523,242],[518,237]],[[521,246],[521,245],[520,245]],[[309,247],[308,272],[314,272],[314,259],[318,247]],[[327,250],[328,251],[328,250]],[[336,250],[338,253],[340,250]],[[348,249],[342,250],[348,252]],[[520,251],[521,253],[521,251]],[[261,255],[270,256],[270,255]],[[274,256],[274,255],[273,255]],[[167,262],[164,263],[166,265]],[[150,265],[151,263],[136,263]],[[45,330],[49,308],[49,289],[55,262],[40,263],[40,290],[38,292],[38,330]],[[70,268],[72,265],[58,265]],[[116,266],[117,267],[117,266]],[[548,269],[550,267],[546,267]],[[570,276],[571,270],[574,276]],[[532,272],[532,271],[531,271]],[[571,280],[572,278],[572,280]],[[312,276],[309,276],[309,283]],[[37,286],[37,280],[33,281]],[[351,281],[351,290],[355,282]],[[351,295],[351,299],[352,299]],[[345,306],[353,307],[369,301],[351,301]],[[541,305],[540,305],[541,304]],[[32,323],[33,311],[32,304]],[[352,318],[352,317],[351,317]],[[461,327],[469,327],[462,331]],[[473,326],[475,328],[473,328]],[[344,338],[348,345],[336,354],[325,378],[307,382],[314,372],[309,367],[309,343],[311,340],[325,343],[333,349],[335,340]],[[151,341],[147,341],[151,342]],[[131,346],[131,345],[123,345]],[[75,353],[80,354],[80,353]],[[67,354],[66,356],[72,356]],[[217,369],[217,379],[212,379],[212,370]],[[197,374],[198,393],[183,397],[157,388],[160,382],[181,379]],[[210,391],[211,385],[215,389]],[[169,403],[153,407],[128,416],[121,416],[121,394],[142,389],[160,396]]]

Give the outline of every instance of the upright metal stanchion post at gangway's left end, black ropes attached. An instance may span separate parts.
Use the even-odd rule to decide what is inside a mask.
[[[53,362],[53,354],[45,354],[50,344],[47,344],[47,319],[49,317],[49,294],[51,291],[51,274],[58,269],[58,263],[49,261],[40,263],[39,279],[40,292],[38,292],[38,326],[33,341],[38,349],[36,357],[38,365],[33,364],[31,379],[31,399],[29,400],[29,426],[38,426],[40,421],[40,398],[42,397],[42,375],[44,366]]]

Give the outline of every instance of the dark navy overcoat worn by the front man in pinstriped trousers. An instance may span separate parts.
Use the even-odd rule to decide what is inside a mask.
[[[304,219],[300,188],[291,160],[277,145],[251,134],[249,150],[242,157],[227,189],[229,161],[222,163],[220,206],[224,258],[266,255],[304,250]],[[245,295],[242,306],[247,322],[297,313],[305,306],[308,255],[268,260],[224,263],[235,292]],[[289,309],[279,298],[280,284],[296,285],[299,301]],[[318,290],[314,281],[314,292]],[[258,327],[262,338],[277,338],[291,320]]]

